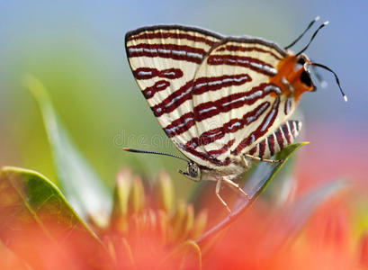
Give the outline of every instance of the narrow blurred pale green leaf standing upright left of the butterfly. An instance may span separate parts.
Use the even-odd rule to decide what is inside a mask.
[[[112,195],[58,121],[45,87],[33,76],[26,76],[24,85],[40,106],[58,183],[68,202],[83,219],[88,216],[95,218],[94,220],[101,220],[101,215],[107,217],[111,210]]]

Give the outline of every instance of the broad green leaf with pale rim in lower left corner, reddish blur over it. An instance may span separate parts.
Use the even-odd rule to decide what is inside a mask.
[[[0,171],[0,239],[34,269],[111,269],[102,242],[44,176]]]

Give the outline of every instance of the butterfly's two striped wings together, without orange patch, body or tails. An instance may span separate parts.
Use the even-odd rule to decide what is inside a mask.
[[[196,163],[215,167],[247,153],[291,114],[271,83],[286,52],[258,38],[225,38],[182,26],[126,35],[130,67],[167,136]]]

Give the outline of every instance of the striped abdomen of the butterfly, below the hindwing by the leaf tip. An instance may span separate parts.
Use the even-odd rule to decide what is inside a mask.
[[[263,139],[254,148],[250,149],[249,155],[261,158],[270,158],[281,149],[292,144],[301,131],[301,121],[285,121],[277,130]]]

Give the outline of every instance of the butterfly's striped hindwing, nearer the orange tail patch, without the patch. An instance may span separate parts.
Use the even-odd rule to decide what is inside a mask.
[[[293,108],[292,98],[270,83],[286,52],[255,38],[228,38],[204,58],[193,85],[199,136],[185,147],[212,164],[247,153],[265,139]],[[284,108],[284,109],[283,109]],[[202,152],[207,152],[207,157]]]

